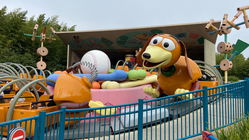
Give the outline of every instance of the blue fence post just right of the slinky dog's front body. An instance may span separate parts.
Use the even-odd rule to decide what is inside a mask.
[[[204,131],[208,130],[208,90],[203,87],[203,126]]]

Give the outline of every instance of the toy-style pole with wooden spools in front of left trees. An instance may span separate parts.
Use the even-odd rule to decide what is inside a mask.
[[[48,55],[48,49],[46,47],[44,47],[44,43],[46,40],[49,40],[49,41],[56,40],[55,39],[55,30],[53,29],[53,27],[50,27],[51,34],[49,37],[46,37],[47,27],[44,26],[42,29],[41,35],[37,36],[38,27],[39,27],[39,25],[35,24],[35,26],[33,28],[33,33],[32,34],[24,34],[24,35],[31,37],[32,41],[35,41],[36,38],[40,38],[41,46],[36,51],[37,55],[40,56],[40,61],[36,63],[36,67],[39,70],[45,70],[47,67],[47,64],[43,61],[43,57]]]

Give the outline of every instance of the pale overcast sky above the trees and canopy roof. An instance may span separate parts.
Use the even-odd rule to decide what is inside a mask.
[[[0,0],[0,8],[7,6],[28,11],[28,17],[45,13],[59,16],[59,21],[76,30],[134,28],[229,19],[236,9],[249,5],[248,0]],[[249,15],[249,10],[248,10]],[[242,16],[236,21],[242,22]],[[228,36],[232,44],[237,39],[249,43],[249,28],[233,29]],[[218,37],[217,42],[223,40]],[[243,54],[249,57],[249,48]]]

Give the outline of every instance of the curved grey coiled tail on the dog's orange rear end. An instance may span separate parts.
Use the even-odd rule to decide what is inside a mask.
[[[86,61],[77,62],[77,63],[75,63],[74,65],[70,66],[66,71],[67,71],[67,72],[71,72],[72,70],[74,70],[74,69],[76,69],[76,68],[79,68],[80,65],[83,65],[83,66],[85,66],[85,67],[87,67],[87,68],[90,69],[90,71],[91,71],[91,73],[90,73],[91,76],[90,76],[90,78],[89,78],[89,81],[90,81],[90,82],[94,81],[94,80],[96,79],[96,77],[97,77],[98,71],[97,71],[95,65],[92,64],[92,63],[90,63],[90,62],[86,62]]]

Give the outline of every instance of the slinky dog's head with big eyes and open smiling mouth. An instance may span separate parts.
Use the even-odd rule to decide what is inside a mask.
[[[185,45],[182,41],[169,34],[152,36],[137,54],[137,60],[138,64],[141,64],[146,69],[167,68],[178,61],[182,51],[185,54],[189,75],[192,76]]]

